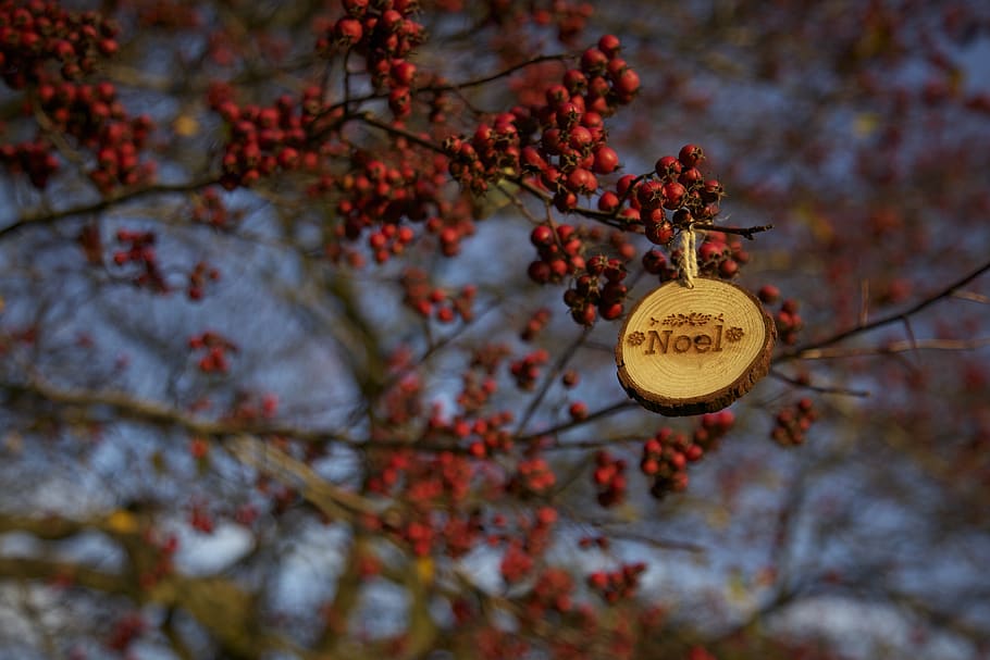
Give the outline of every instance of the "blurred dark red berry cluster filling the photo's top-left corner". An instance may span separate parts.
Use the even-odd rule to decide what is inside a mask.
[[[66,10],[61,2],[0,3],[0,72],[13,89],[37,83],[49,62],[65,79],[92,73],[98,57],[114,54],[119,27],[99,13]]]

